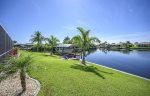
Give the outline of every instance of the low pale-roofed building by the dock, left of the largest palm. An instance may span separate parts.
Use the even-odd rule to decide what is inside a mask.
[[[65,54],[65,53],[72,53],[74,49],[79,48],[77,45],[74,44],[58,44],[55,47],[57,53]]]

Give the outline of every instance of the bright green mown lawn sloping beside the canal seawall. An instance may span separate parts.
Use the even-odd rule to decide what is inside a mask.
[[[39,96],[150,96],[150,81],[45,53],[34,56],[29,75],[41,83]]]

